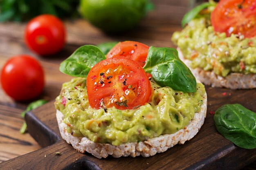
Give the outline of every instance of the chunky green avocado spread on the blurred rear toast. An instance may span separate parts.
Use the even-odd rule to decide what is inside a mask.
[[[210,12],[213,9],[208,8]],[[198,15],[172,35],[174,44],[191,60],[191,68],[199,67],[223,77],[229,73],[256,74],[256,37],[217,33],[209,18],[210,13]]]

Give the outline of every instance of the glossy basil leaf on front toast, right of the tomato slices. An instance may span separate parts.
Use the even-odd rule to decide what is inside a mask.
[[[196,92],[195,77],[180,60],[176,49],[150,46],[143,68],[160,86],[169,86],[176,91]]]

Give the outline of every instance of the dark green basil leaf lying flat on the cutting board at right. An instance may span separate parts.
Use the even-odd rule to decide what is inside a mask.
[[[256,113],[240,104],[225,104],[214,115],[216,129],[237,146],[256,148]]]

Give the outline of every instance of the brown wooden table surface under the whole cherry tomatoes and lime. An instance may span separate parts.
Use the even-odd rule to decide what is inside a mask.
[[[9,57],[28,54],[36,57],[45,71],[45,88],[37,99],[51,101],[59,94],[61,84],[69,81],[70,76],[59,72],[61,61],[67,58],[76,48],[84,44],[98,44],[108,41],[134,40],[149,46],[175,47],[171,42],[174,31],[180,30],[180,20],[188,10],[186,0],[153,0],[155,11],[148,13],[134,30],[120,35],[106,35],[83,19],[66,20],[67,43],[64,49],[54,56],[40,57],[31,53],[24,43],[25,23],[0,23],[0,68]],[[19,155],[38,150],[39,144],[26,133],[19,133],[23,119],[20,113],[29,102],[15,102],[0,89],[0,162]],[[256,162],[244,170],[256,169]]]

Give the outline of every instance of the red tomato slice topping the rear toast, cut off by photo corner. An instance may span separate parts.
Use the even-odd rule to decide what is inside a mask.
[[[256,35],[255,0],[220,0],[211,13],[211,23],[215,31],[242,34],[247,38]]]

